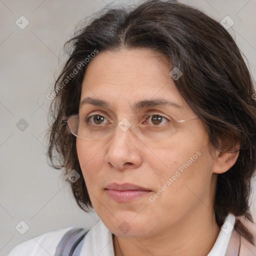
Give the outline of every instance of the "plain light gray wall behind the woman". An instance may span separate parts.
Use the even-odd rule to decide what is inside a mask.
[[[64,60],[62,46],[75,24],[108,3],[121,2],[133,1],[0,0],[0,255],[41,233],[68,226],[90,228],[98,221],[95,213],[87,214],[76,206],[60,171],[47,165],[44,131],[50,100],[46,94],[52,90],[54,72],[59,72]],[[256,0],[182,2],[204,10],[219,22],[226,15],[234,21],[228,31],[255,77]],[[25,28],[22,26],[27,21],[20,16],[29,22]],[[255,199],[253,190],[254,219]],[[29,226],[24,234],[15,228],[20,221]]]

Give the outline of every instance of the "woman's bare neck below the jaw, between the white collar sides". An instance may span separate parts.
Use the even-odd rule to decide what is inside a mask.
[[[202,206],[206,208],[205,205]],[[168,226],[164,232],[154,236],[114,235],[114,255],[206,256],[215,243],[220,227],[216,224],[212,211],[201,210],[201,214],[185,216],[180,219],[179,224]]]

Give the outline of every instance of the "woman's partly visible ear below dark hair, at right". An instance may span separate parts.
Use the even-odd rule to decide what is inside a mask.
[[[227,152],[219,152],[216,150],[212,172],[218,174],[226,172],[235,164],[238,155],[239,145],[236,145]]]

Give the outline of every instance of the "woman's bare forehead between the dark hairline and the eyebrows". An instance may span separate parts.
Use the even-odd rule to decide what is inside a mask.
[[[87,64],[81,101],[93,97],[117,107],[164,98],[189,108],[169,75],[170,61],[147,48],[99,52]]]

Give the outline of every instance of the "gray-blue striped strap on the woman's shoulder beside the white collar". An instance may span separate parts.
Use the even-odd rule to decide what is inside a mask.
[[[69,229],[59,241],[54,256],[78,256],[86,233],[83,228]]]

